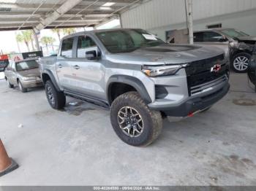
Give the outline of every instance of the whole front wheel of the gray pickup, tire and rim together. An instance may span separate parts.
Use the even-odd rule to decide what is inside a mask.
[[[136,92],[124,93],[113,101],[110,120],[117,136],[132,146],[146,147],[162,130],[160,112],[148,109]]]

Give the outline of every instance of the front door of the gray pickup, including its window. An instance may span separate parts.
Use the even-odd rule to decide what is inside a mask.
[[[99,52],[97,44],[91,36],[78,36],[75,47],[75,59],[72,61],[73,76],[77,85],[76,92],[79,94],[104,99],[105,91],[102,88],[102,80],[105,67],[102,66],[101,59],[88,60],[86,52],[95,50]]]

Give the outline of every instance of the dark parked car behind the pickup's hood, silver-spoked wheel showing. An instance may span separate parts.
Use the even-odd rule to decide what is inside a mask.
[[[211,44],[225,50],[230,66],[236,72],[246,72],[256,37],[234,28],[215,28],[194,32],[195,44]],[[249,48],[248,48],[249,47]]]

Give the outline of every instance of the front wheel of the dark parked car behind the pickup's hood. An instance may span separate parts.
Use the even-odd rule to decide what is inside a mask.
[[[236,71],[237,73],[246,72],[248,69],[250,58],[251,58],[251,55],[246,52],[241,52],[241,53],[238,53],[237,55],[234,55],[231,61],[231,66],[233,71]]]

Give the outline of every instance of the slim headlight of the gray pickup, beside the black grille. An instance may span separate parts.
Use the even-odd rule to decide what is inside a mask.
[[[188,63],[179,65],[169,65],[169,66],[142,66],[142,71],[148,77],[159,77],[174,75],[182,68],[188,66]]]

